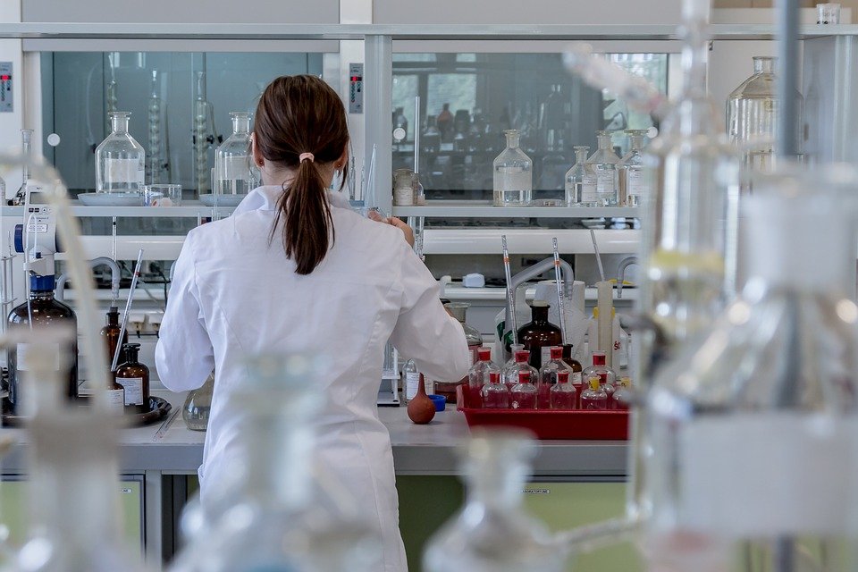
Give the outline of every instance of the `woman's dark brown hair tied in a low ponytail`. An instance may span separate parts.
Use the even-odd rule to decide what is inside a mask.
[[[269,242],[283,218],[282,240],[296,272],[321,264],[334,240],[331,207],[320,167],[339,159],[349,142],[346,111],[328,84],[312,75],[283,76],[265,88],[254,119],[257,147],[268,161],[295,172],[277,202]],[[301,160],[301,156],[311,156]]]

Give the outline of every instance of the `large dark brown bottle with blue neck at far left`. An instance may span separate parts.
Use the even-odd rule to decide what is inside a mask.
[[[10,328],[29,326],[30,315],[33,325],[50,326],[58,322],[69,321],[77,332],[78,320],[71,307],[54,299],[54,276],[38,276],[31,274],[29,277],[29,308],[24,302],[15,307],[9,313],[7,323]],[[21,388],[18,370],[18,354],[26,351],[27,344],[18,344],[16,347],[6,349],[6,364],[9,366],[9,395],[3,400],[3,414],[8,416],[21,415]],[[70,400],[78,399],[78,344],[73,341],[67,349],[73,358],[68,369],[68,384],[66,395]]]

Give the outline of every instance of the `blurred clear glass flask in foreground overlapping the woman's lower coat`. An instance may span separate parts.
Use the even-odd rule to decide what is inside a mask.
[[[234,483],[206,499],[212,523],[195,534],[172,572],[364,572],[381,568],[380,539],[349,509],[319,494],[313,417],[322,394],[299,356],[247,360],[248,384],[231,391],[240,425]],[[333,497],[337,498],[337,497]]]

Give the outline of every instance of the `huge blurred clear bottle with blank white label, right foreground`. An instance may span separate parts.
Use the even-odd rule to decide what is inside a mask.
[[[726,569],[741,551],[743,570],[758,556],[778,572],[854,570],[856,179],[784,167],[743,198],[742,294],[647,400],[652,569]]]

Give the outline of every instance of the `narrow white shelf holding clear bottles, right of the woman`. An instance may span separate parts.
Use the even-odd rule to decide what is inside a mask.
[[[393,206],[394,216],[428,218],[600,218],[635,217],[632,206],[492,206],[489,201],[433,200],[425,206]]]

